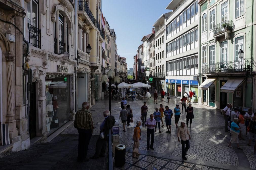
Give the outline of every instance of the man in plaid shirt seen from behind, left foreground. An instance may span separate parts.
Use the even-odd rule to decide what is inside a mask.
[[[93,133],[92,114],[88,111],[89,103],[83,102],[82,109],[77,111],[74,120],[74,127],[78,130],[78,162],[89,161],[87,156],[88,146]]]

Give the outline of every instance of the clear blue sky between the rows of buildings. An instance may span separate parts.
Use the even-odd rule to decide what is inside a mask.
[[[102,12],[116,33],[118,54],[133,68],[133,56],[142,37],[150,34],[155,21],[164,13],[171,0],[102,0]]]

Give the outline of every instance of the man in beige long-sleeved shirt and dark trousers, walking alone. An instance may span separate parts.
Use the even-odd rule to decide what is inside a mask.
[[[189,134],[187,125],[185,125],[185,122],[181,122],[181,125],[178,127],[177,137],[178,137],[178,142],[180,142],[180,140],[181,140],[182,158],[184,160],[187,160],[185,155],[187,155],[186,152],[190,148],[190,145],[189,145],[190,134]],[[185,147],[185,145],[186,145],[186,147]]]

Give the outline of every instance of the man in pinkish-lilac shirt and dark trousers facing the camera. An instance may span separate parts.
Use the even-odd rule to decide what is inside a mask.
[[[153,119],[154,115],[150,114],[150,118],[148,118],[145,122],[145,126],[147,126],[147,150],[153,149],[153,145],[154,145],[154,136],[155,136],[155,126],[156,126],[156,120]],[[149,145],[149,140],[150,140],[150,136],[151,136],[151,141],[150,141],[150,145]]]

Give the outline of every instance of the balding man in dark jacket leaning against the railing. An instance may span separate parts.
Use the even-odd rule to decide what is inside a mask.
[[[101,132],[104,133],[104,138],[98,138],[96,142],[96,149],[95,154],[91,157],[91,159],[97,159],[99,157],[105,157],[106,152],[106,141],[108,140],[109,135],[109,129],[112,129],[112,127],[115,124],[115,118],[114,116],[110,115],[110,111],[105,110],[103,112],[103,116],[105,117],[104,121],[100,125],[100,134]]]

